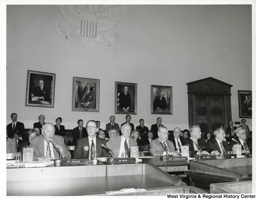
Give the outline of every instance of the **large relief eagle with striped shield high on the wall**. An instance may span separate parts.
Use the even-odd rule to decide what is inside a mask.
[[[105,52],[118,41],[119,34],[117,32],[113,33],[110,40],[106,41],[101,33],[112,30],[116,26],[117,20],[122,19],[128,12],[128,5],[107,8],[103,10],[102,16],[99,18],[96,13],[101,12],[102,5],[97,5],[98,9],[96,11],[94,5],[58,5],[58,7],[63,19],[76,28],[70,35],[67,35],[60,20],[57,21],[56,29],[61,37],[73,43],[71,37],[82,36],[81,44],[87,49],[95,46],[94,40],[103,42],[105,45],[101,49]]]

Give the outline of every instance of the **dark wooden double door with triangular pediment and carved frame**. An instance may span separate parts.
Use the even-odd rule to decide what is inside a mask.
[[[231,87],[233,85],[208,77],[187,83],[188,123],[200,124],[201,132],[213,131],[223,124],[225,129],[231,116]]]

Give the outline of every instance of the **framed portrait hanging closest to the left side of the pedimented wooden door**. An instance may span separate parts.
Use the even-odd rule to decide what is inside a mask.
[[[151,85],[151,114],[172,115],[172,86]]]

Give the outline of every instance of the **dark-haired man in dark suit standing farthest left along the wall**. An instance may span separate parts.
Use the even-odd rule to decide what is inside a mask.
[[[13,138],[14,132],[18,130],[20,132],[22,140],[25,141],[26,140],[25,127],[22,122],[17,121],[17,117],[18,115],[16,113],[11,114],[12,123],[6,126],[6,129],[9,133],[8,137]]]

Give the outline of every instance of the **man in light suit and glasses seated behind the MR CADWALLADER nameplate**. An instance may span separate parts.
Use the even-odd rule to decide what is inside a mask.
[[[173,155],[175,156],[175,147],[173,143],[168,140],[169,132],[166,127],[159,127],[158,129],[158,138],[154,139],[149,144],[150,153],[153,156],[165,156],[165,155]],[[166,151],[168,154],[166,154]]]

